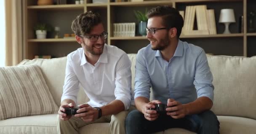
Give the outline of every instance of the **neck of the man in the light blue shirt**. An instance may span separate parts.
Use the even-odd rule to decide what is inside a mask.
[[[179,42],[179,40],[170,41],[170,45],[167,48],[165,48],[164,50],[161,50],[162,57],[167,62],[169,62],[169,60],[173,57],[175,50],[178,46],[178,42]]]

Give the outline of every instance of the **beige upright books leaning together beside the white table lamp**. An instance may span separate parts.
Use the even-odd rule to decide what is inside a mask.
[[[184,18],[184,11],[179,11]],[[194,30],[194,21],[197,21],[197,30]],[[216,34],[214,10],[207,10],[206,5],[186,6],[182,35]]]

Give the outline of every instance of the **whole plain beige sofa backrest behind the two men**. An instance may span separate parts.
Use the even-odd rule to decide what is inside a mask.
[[[128,54],[132,66],[132,92],[136,54]],[[41,67],[54,101],[60,106],[64,85],[67,57],[54,59],[25,59],[20,63],[37,64]],[[216,115],[242,116],[256,119],[256,57],[208,56],[213,73],[214,105]],[[152,96],[152,95],[151,95]],[[77,103],[88,102],[83,89],[78,93]]]

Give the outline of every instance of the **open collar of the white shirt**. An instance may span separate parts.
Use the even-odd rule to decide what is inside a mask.
[[[107,44],[104,44],[104,49],[103,49],[103,52],[102,52],[101,56],[99,57],[98,62],[107,63],[107,46],[106,45]],[[88,63],[88,61],[87,61],[87,59],[85,57],[85,52],[83,50],[80,66],[82,66],[82,65],[84,65],[86,63]]]

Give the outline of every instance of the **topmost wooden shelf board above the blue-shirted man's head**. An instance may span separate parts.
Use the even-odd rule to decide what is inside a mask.
[[[112,2],[112,6],[146,6],[146,5],[172,5],[172,0],[155,0],[155,1],[141,1],[141,2]]]

